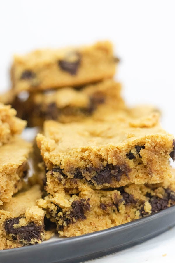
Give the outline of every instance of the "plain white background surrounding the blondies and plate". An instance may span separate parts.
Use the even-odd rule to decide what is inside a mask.
[[[13,53],[110,39],[127,103],[158,106],[163,127],[175,134],[174,35],[175,1],[0,1],[0,90],[10,88]],[[97,262],[132,262],[135,255],[136,262],[174,262],[173,233]]]

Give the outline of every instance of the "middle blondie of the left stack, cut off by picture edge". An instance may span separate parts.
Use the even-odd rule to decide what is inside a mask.
[[[22,188],[30,152],[31,143],[18,136],[0,147],[0,204],[9,202],[12,195]]]

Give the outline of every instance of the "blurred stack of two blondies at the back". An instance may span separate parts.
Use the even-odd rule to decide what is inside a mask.
[[[45,120],[79,121],[102,106],[124,108],[121,85],[111,79],[117,63],[108,41],[15,56],[13,107],[30,127],[42,127]]]

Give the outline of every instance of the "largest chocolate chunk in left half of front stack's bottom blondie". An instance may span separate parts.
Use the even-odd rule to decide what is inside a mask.
[[[69,217],[71,221],[75,219],[76,221],[78,219],[86,219],[85,211],[90,211],[90,204],[89,204],[90,198],[87,200],[85,198],[82,198],[80,200],[72,202],[72,209],[70,211]]]

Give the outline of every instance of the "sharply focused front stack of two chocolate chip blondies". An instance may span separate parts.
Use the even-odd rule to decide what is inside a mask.
[[[175,204],[174,139],[157,112],[144,111],[111,113],[115,122],[45,122],[36,140],[48,170],[47,196],[38,205],[60,236],[99,231]]]

